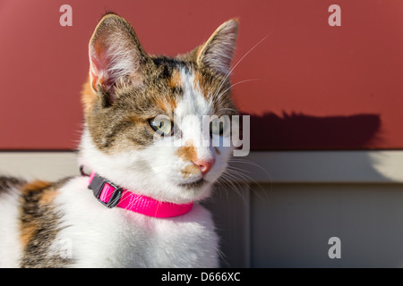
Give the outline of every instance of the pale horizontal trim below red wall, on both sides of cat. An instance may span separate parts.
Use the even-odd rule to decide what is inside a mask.
[[[78,174],[76,161],[75,152],[0,152],[0,174],[53,181]],[[232,165],[248,183],[403,183],[403,151],[255,151]]]

